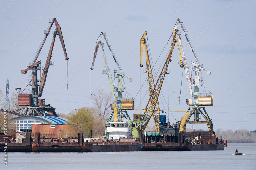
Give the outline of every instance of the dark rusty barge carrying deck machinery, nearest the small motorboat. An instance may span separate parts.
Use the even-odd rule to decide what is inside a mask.
[[[145,151],[207,151],[224,150],[223,140],[210,132],[179,132],[179,122],[161,124],[159,131],[140,134]]]

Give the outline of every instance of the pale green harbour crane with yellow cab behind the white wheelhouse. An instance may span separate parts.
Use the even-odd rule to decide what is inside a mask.
[[[105,55],[104,48],[103,48],[104,43],[101,42],[102,36],[104,37],[106,45],[108,46],[108,48],[112,54],[112,57],[113,57],[116,65],[118,66],[118,70],[114,70],[114,81],[112,80],[112,75],[110,74],[110,69],[108,66],[108,62],[106,60],[106,55]],[[100,33],[100,36],[98,37],[97,42],[96,42],[91,70],[93,70],[93,66],[94,66],[94,62],[95,62],[95,58],[96,58],[99,46],[101,46],[103,58],[105,61],[105,67],[106,67],[106,70],[103,70],[102,74],[108,75],[110,89],[111,89],[114,101],[116,102],[116,103],[111,104],[111,109],[113,110],[113,112],[110,115],[109,119],[106,120],[105,136],[109,136],[107,129],[108,129],[108,127],[110,127],[110,122],[117,122],[117,120],[119,120],[119,121],[123,120],[124,122],[129,122],[129,127],[131,126],[133,135],[135,137],[139,137],[138,136],[139,135],[138,128],[141,123],[137,123],[137,122],[133,123],[130,116],[127,113],[127,110],[134,109],[134,99],[133,98],[123,98],[123,96],[122,96],[122,92],[125,90],[125,87],[122,85],[123,77],[128,79],[130,82],[132,81],[132,78],[128,78],[127,76],[125,76],[125,73],[122,72],[122,68],[121,68],[121,66],[115,56],[115,53],[111,47],[111,43],[109,43],[106,33],[103,33],[103,32]],[[115,86],[115,78],[118,78],[118,86]],[[116,92],[117,92],[117,96],[116,96]]]

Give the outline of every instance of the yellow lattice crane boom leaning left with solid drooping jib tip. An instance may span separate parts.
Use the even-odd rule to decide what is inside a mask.
[[[147,76],[148,76],[148,87],[149,87],[149,95],[151,96],[152,94],[152,91],[155,87],[155,82],[154,82],[154,76],[153,76],[153,73],[152,73],[152,69],[151,69],[151,64],[150,64],[150,59],[149,59],[149,54],[148,54],[148,49],[147,49],[147,43],[146,43],[146,39],[145,39],[145,36],[146,36],[146,33],[147,31],[145,31],[145,33],[143,34],[143,36],[141,37],[141,64],[140,64],[140,67],[143,67],[143,64],[142,64],[142,58],[143,58],[143,46],[145,46],[145,54],[146,54],[146,70],[143,71],[143,72],[147,72]],[[154,103],[153,102],[153,98],[151,98],[151,102],[150,103]],[[146,112],[146,121],[145,123],[143,123],[141,125],[142,128],[146,128],[149,120],[151,119],[152,115],[153,115],[153,120],[154,120],[154,124],[155,124],[155,128],[156,130],[158,131],[159,130],[159,116],[160,116],[160,109],[159,109],[159,103],[158,103],[158,100],[156,100],[156,106],[154,108],[154,112],[153,113],[150,113],[150,112]]]

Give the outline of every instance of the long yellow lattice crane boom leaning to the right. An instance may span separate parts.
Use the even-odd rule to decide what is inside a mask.
[[[155,107],[156,107],[156,104],[158,101],[158,97],[159,97],[159,94],[160,94],[160,91],[161,91],[161,88],[162,88],[162,85],[164,82],[165,74],[169,74],[169,70],[167,70],[167,68],[168,68],[169,62],[171,61],[174,46],[178,40],[178,38],[176,38],[178,23],[179,22],[177,20],[177,22],[173,28],[172,44],[171,44],[171,48],[170,48],[168,57],[164,63],[162,71],[157,79],[156,85],[154,86],[154,89],[152,90],[152,94],[150,95],[150,99],[148,100],[146,108],[144,110],[144,114],[146,114],[146,115],[150,115],[150,114],[154,113],[154,110],[155,110]],[[144,132],[145,127],[146,126],[142,125],[140,132]]]

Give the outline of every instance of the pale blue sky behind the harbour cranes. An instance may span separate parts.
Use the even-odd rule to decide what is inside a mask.
[[[22,89],[26,87],[28,77],[22,77],[23,74],[20,71],[26,69],[27,63],[34,58],[44,36],[44,30],[47,30],[49,25],[49,19],[56,18],[62,33],[67,37],[65,45],[69,57],[69,74],[72,74],[72,77],[69,80],[68,91],[66,85],[58,88],[67,76],[67,61],[62,48],[56,48],[51,59],[56,62],[56,66],[49,68],[42,95],[42,98],[46,99],[46,104],[56,107],[56,112],[65,114],[72,109],[90,106],[90,67],[96,40],[101,31],[109,36],[112,48],[123,68],[122,71],[127,77],[133,78],[132,82],[125,80],[125,85],[129,94],[135,98],[140,89],[140,72],[141,84],[146,79],[146,73],[140,70],[140,56],[136,52],[140,46],[140,38],[145,31],[148,37],[152,37],[149,47],[153,63],[155,63],[179,17],[184,20],[186,31],[191,40],[194,40],[196,53],[203,62],[204,68],[211,71],[210,75],[205,72],[202,72],[202,75],[206,80],[205,85],[214,95],[213,108],[206,107],[214,123],[214,130],[218,128],[255,130],[256,25],[254,21],[256,13],[254,8],[256,2],[232,2],[233,4],[231,1],[195,0],[25,2],[3,0],[0,2],[0,67],[2,72],[0,88],[5,91],[7,78],[10,91],[14,90],[13,87],[19,83],[18,86]],[[52,30],[54,28],[55,26]],[[180,27],[178,29],[181,31]],[[23,40],[17,40],[20,37]],[[182,38],[184,46],[187,46],[185,37]],[[45,63],[51,39],[50,34],[38,57],[42,63]],[[58,42],[57,37],[55,47]],[[169,47],[170,43],[157,61],[156,71],[165,60]],[[111,74],[113,74],[114,69],[117,69],[116,65],[108,49],[104,49]],[[220,56],[220,53],[223,56]],[[190,49],[185,50],[185,56],[190,66],[189,62],[195,61]],[[182,69],[177,66],[178,60],[175,47],[170,63],[169,79],[166,76],[165,80],[170,82],[170,87],[179,95]],[[143,64],[145,68],[145,60]],[[105,68],[102,52],[99,49],[92,71],[92,91],[100,87],[105,87],[104,91],[110,91],[109,84],[105,83],[107,76],[101,74],[101,70]],[[248,73],[248,76],[245,73]],[[237,83],[239,86],[236,86],[236,82],[239,81],[241,83]],[[185,99],[191,98],[190,95],[187,93],[181,99],[181,103],[177,103],[171,89],[168,95],[166,82],[162,87],[164,97],[162,97],[163,103],[159,100],[160,108],[168,109],[164,98],[168,104],[169,96],[170,110],[186,111],[188,106]],[[231,90],[231,86],[237,87],[232,93],[228,91]],[[144,84],[143,87],[147,85]],[[185,75],[183,75],[182,89],[186,90],[186,88]],[[141,99],[144,95],[145,92],[142,90]],[[145,108],[147,100],[148,94],[139,108]],[[135,98],[136,108],[139,103],[140,93]],[[178,120],[183,117],[184,113],[173,112],[173,115]],[[169,114],[169,119],[172,123],[176,122],[171,114]],[[197,128],[206,129],[207,127],[202,125]]]

